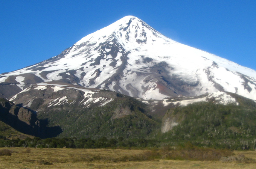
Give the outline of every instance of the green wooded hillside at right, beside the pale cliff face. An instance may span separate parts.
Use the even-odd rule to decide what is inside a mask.
[[[170,110],[166,116],[177,118],[179,124],[160,136],[163,142],[177,145],[190,141],[213,148],[256,149],[255,104],[194,103]]]

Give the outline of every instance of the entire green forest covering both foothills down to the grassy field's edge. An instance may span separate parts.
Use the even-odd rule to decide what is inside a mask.
[[[94,106],[85,110],[71,107],[75,111],[74,116],[69,110],[58,109],[41,114],[38,118],[49,118],[49,124],[58,122],[62,130],[65,130],[62,134],[46,139],[24,139],[24,136],[23,139],[8,138],[8,127],[0,123],[0,146],[152,148],[165,145],[177,147],[190,142],[198,147],[255,150],[256,103],[237,95],[236,101],[239,105],[198,102],[170,108],[162,119],[162,125],[166,119],[171,119],[175,125],[165,133],[161,132],[161,122],[148,114],[148,107],[130,97],[121,97],[105,106]],[[122,116],[117,117],[120,112]],[[68,133],[75,135],[70,136]]]

